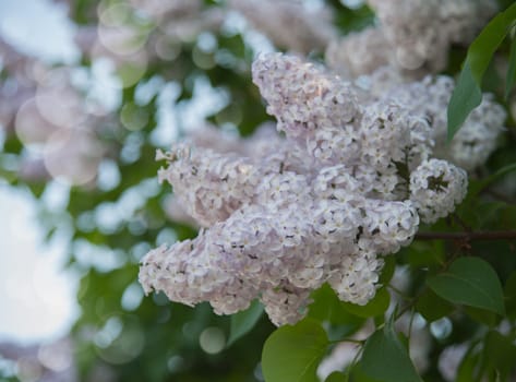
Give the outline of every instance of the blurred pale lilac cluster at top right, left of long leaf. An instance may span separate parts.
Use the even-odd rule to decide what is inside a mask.
[[[333,40],[328,64],[352,76],[391,64],[409,76],[439,72],[453,44],[467,45],[495,13],[493,0],[369,0],[377,24]]]

